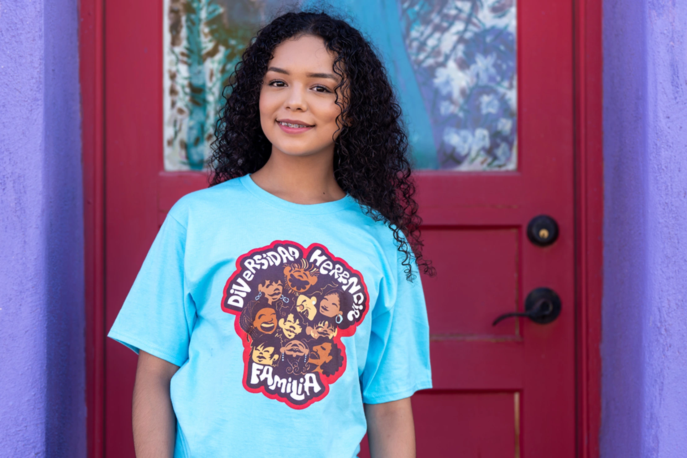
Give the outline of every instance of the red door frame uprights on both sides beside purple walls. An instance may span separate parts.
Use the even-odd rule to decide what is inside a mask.
[[[104,457],[105,446],[104,1],[79,2],[89,458]],[[573,0],[573,5],[576,455],[598,458],[603,265],[602,5],[595,0]]]

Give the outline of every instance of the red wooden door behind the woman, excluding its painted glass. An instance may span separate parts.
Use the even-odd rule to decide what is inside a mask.
[[[413,398],[418,457],[576,456],[574,10],[572,0],[518,8],[517,170],[417,174],[438,271],[423,278],[434,389]],[[206,183],[164,171],[161,12],[161,0],[105,3],[106,330],[168,209]],[[560,229],[548,247],[526,236],[541,214]],[[555,321],[492,325],[540,287],[561,299]],[[135,365],[106,341],[106,457],[133,457]]]

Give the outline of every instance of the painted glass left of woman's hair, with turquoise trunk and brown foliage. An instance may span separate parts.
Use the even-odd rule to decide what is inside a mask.
[[[164,0],[165,170],[202,170],[222,91],[251,37],[297,0]]]

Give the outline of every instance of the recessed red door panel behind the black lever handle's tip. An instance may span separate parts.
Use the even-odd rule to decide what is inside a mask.
[[[497,315],[517,309],[518,229],[427,227],[423,238],[437,271],[423,278],[433,339],[518,339],[517,320],[491,326]]]

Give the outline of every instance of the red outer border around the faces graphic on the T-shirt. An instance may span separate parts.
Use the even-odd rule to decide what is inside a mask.
[[[243,261],[246,257],[251,257],[251,255],[253,255],[254,253],[257,253],[258,251],[265,251],[267,249],[273,249],[278,244],[282,244],[282,245],[283,244],[292,244],[293,246],[300,248],[301,252],[303,253],[303,259],[307,259],[308,255],[311,254],[311,251],[313,250],[313,248],[322,249],[327,255],[329,255],[329,257],[332,259],[333,262],[340,262],[341,264],[346,266],[346,268],[348,268],[351,271],[351,273],[357,274],[360,277],[360,283],[363,286],[363,290],[365,291],[365,308],[363,309],[363,313],[361,314],[360,319],[356,323],[350,325],[345,330],[339,329],[337,332],[337,335],[334,336],[334,338],[333,338],[333,341],[341,346],[341,356],[343,356],[343,363],[341,364],[341,367],[339,367],[339,370],[337,370],[336,373],[331,375],[331,376],[324,376],[323,374],[319,374],[319,380],[322,381],[322,384],[324,385],[324,391],[322,392],[322,394],[320,394],[319,396],[317,396],[315,398],[312,398],[311,400],[309,400],[305,404],[293,404],[293,402],[289,401],[286,398],[282,398],[281,396],[279,396],[276,393],[273,394],[273,393],[269,393],[268,391],[265,391],[264,387],[262,387],[262,386],[260,388],[251,388],[248,386],[248,384],[247,384],[248,361],[249,361],[250,354],[251,354],[251,346],[250,346],[250,343],[248,342],[248,339],[247,339],[248,334],[246,334],[246,332],[240,328],[240,325],[238,324],[238,319],[234,319],[234,330],[236,330],[236,334],[238,334],[238,336],[241,339],[241,343],[243,344],[243,380],[242,380],[243,387],[246,389],[246,391],[249,391],[250,393],[262,393],[264,396],[267,396],[267,398],[269,398],[269,399],[275,399],[275,400],[278,400],[280,402],[284,402],[284,404],[291,407],[291,409],[300,410],[300,409],[305,409],[306,407],[310,407],[314,402],[317,402],[319,400],[324,399],[329,393],[329,385],[331,385],[332,383],[339,380],[339,377],[341,377],[343,372],[346,371],[346,366],[348,365],[348,358],[346,356],[346,345],[343,345],[343,343],[341,342],[341,337],[350,337],[353,334],[355,334],[355,331],[356,331],[358,325],[363,322],[363,320],[365,319],[365,317],[368,314],[368,310],[370,310],[370,294],[368,293],[368,285],[365,284],[365,279],[363,278],[363,274],[360,273],[360,271],[357,271],[356,269],[352,268],[348,264],[348,262],[346,262],[345,260],[342,260],[340,257],[336,257],[335,255],[333,255],[327,249],[327,247],[325,247],[323,244],[311,243],[310,245],[308,245],[308,248],[306,249],[303,247],[302,244],[300,244],[298,242],[292,242],[291,240],[275,240],[274,242],[272,242],[269,245],[266,245],[265,247],[252,249],[248,253],[240,255],[238,258],[236,258],[236,271],[234,271],[234,273],[232,273],[231,277],[229,277],[229,279],[227,279],[227,282],[224,285],[224,290],[223,290],[223,294],[222,294],[222,311],[223,312],[230,313],[230,314],[234,315],[234,317],[238,317],[241,313],[237,310],[225,308],[225,306],[224,306],[224,304],[227,301],[227,291],[229,290],[229,284],[231,284],[234,281],[234,279],[240,273],[242,273],[241,261]],[[323,275],[327,275],[327,274],[323,274]]]

